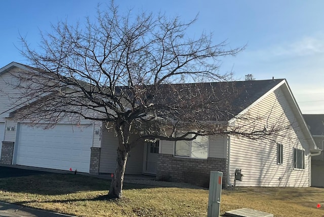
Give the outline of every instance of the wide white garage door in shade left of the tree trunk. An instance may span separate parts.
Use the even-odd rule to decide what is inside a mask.
[[[89,173],[92,126],[59,124],[52,129],[20,124],[16,165]]]

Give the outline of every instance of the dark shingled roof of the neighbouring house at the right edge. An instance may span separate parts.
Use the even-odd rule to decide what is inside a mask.
[[[324,114],[303,115],[312,135],[324,136]]]

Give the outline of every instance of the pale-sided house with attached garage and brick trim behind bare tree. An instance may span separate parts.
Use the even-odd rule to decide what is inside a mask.
[[[1,164],[91,174],[113,173],[117,139],[104,123],[68,117],[51,129],[15,122],[10,108],[12,73],[27,66],[11,63],[0,69],[0,135],[4,135]],[[311,155],[318,153],[296,100],[285,79],[188,84],[209,86],[213,91],[235,89],[220,103],[228,116],[219,116],[224,131],[217,136],[198,136],[193,141],[165,141],[136,145],[130,152],[126,174],[152,174],[157,179],[206,185],[211,170],[223,172],[223,184],[233,185],[234,174],[243,174],[238,186],[310,186]],[[225,102],[225,101],[224,101]],[[226,117],[225,117],[226,116]],[[289,126],[289,127],[288,127]],[[252,130],[271,139],[249,138]],[[239,129],[239,131],[238,131]],[[180,132],[181,133],[181,132]]]

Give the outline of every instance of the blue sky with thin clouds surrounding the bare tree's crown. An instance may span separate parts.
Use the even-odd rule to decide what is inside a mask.
[[[39,30],[50,31],[59,20],[83,22],[96,16],[97,4],[109,1],[56,0],[0,2],[0,68],[20,55],[19,34],[37,48]],[[253,74],[257,80],[286,78],[304,114],[324,114],[324,1],[301,0],[119,0],[119,11],[166,13],[198,20],[189,34],[212,32],[215,43],[247,45],[234,58],[225,58],[220,72],[234,72],[236,80]]]

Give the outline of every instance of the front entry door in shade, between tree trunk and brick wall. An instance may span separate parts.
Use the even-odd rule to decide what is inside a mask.
[[[144,173],[156,174],[159,141],[147,142],[145,146],[146,156],[144,157]]]

